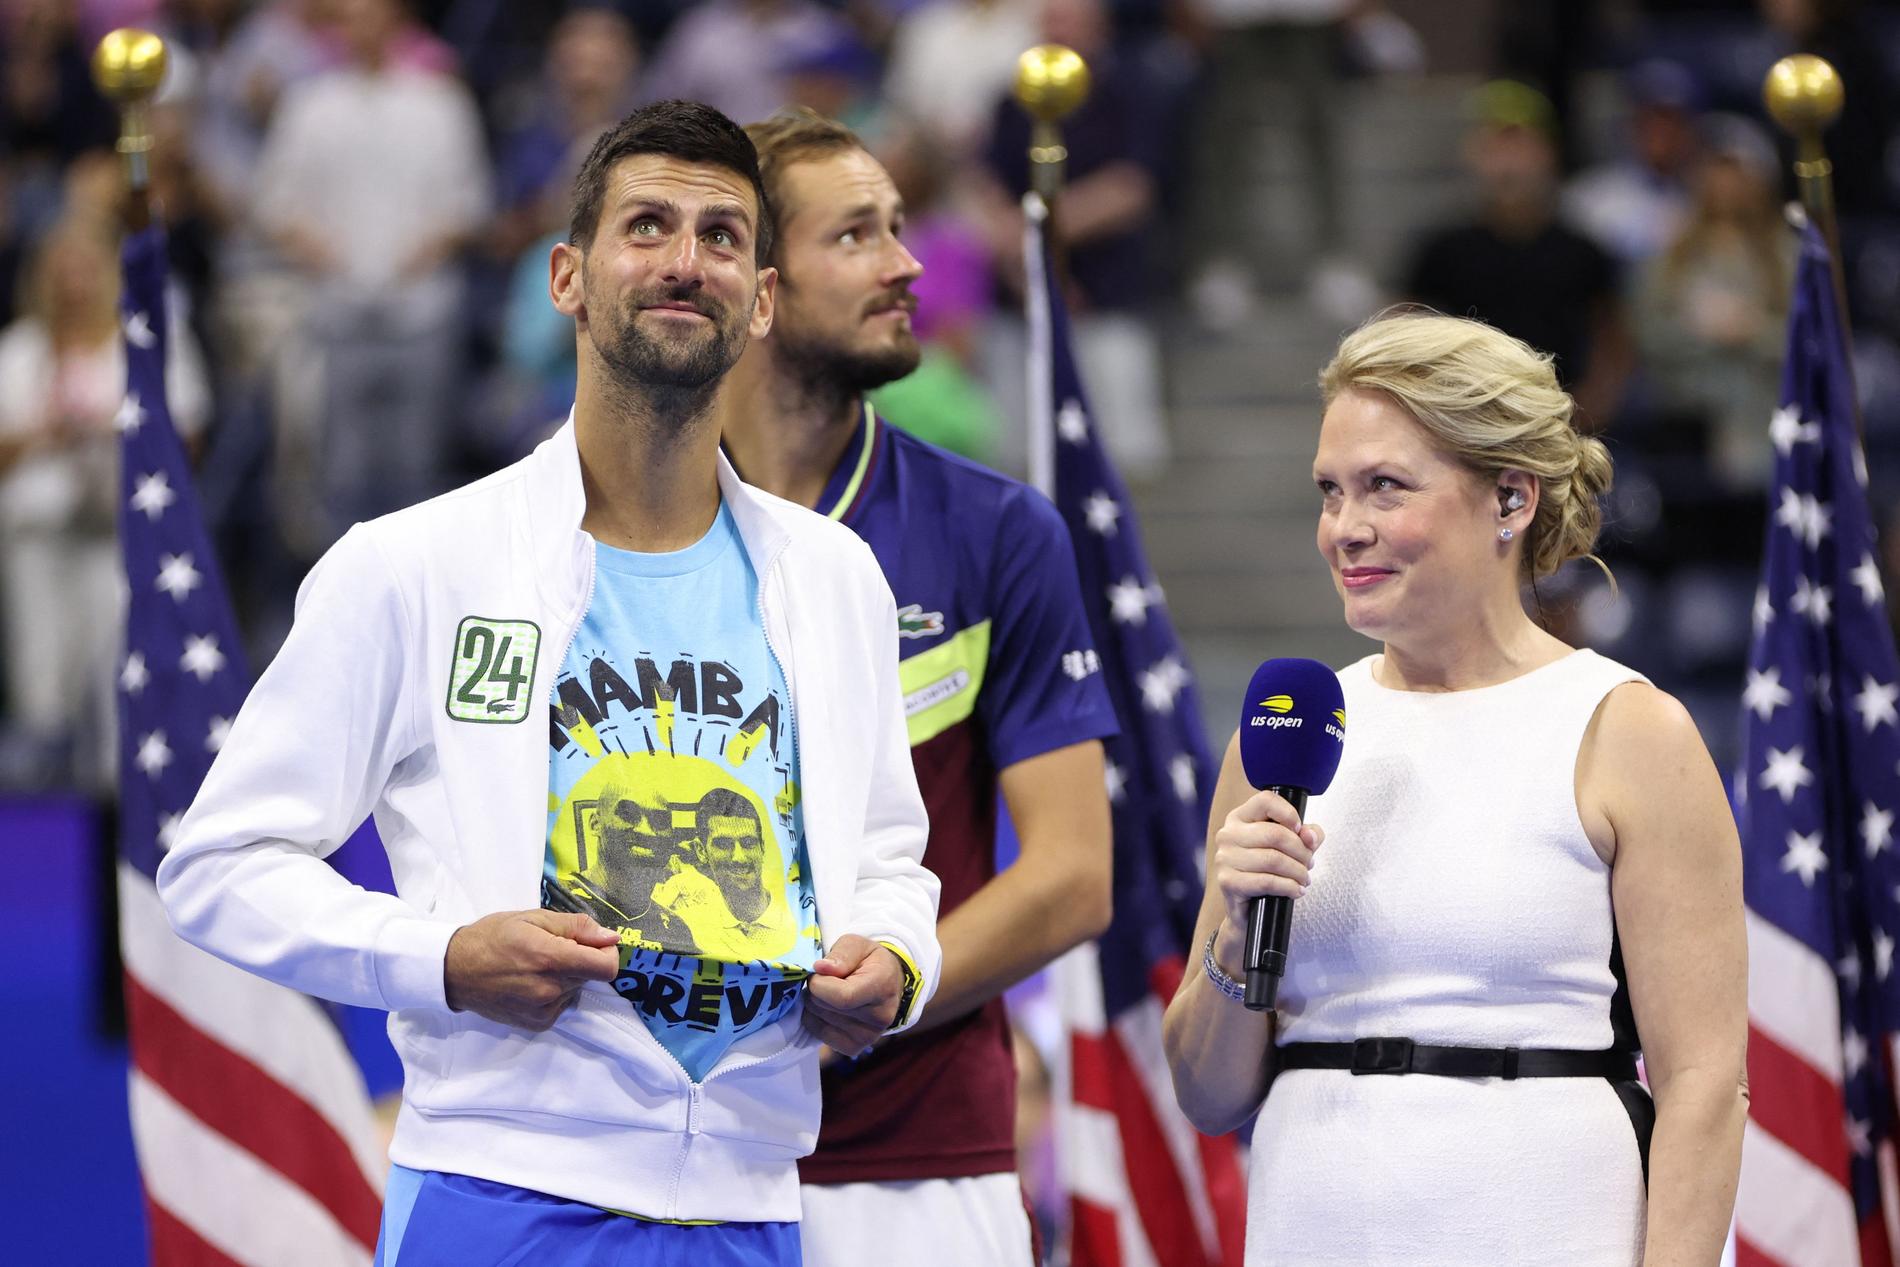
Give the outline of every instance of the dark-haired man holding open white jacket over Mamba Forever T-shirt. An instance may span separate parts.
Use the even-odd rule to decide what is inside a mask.
[[[570,228],[572,420],[312,570],[160,891],[213,954],[391,1012],[378,1261],[798,1263],[819,1045],[916,1022],[939,971],[897,612],[718,452],[775,293],[745,133],[629,116]],[[321,860],[365,815],[395,897]]]

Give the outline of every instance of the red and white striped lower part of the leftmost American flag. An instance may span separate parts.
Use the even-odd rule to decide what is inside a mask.
[[[179,940],[139,870],[118,889],[152,1261],[363,1267],[388,1161],[336,1026]]]

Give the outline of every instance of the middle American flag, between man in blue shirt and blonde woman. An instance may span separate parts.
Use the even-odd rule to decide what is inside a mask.
[[[1239,1149],[1231,1136],[1188,1125],[1161,1049],[1161,1012],[1182,980],[1201,908],[1214,764],[1134,507],[1089,414],[1045,249],[1045,205],[1030,194],[1024,211],[1030,443],[1037,482],[1075,543],[1089,629],[1121,722],[1108,741],[1115,916],[1098,942],[1058,965],[1070,1039],[1056,1149],[1070,1195],[1070,1263],[1239,1267]]]

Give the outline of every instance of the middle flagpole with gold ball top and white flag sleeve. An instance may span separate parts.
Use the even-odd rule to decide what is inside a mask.
[[[1034,120],[1030,127],[1030,192],[1022,196],[1022,304],[1030,329],[1030,482],[1054,496],[1054,401],[1049,348],[1049,294],[1043,287],[1049,251],[1049,213],[1062,192],[1068,146],[1062,120],[1089,97],[1089,63],[1060,44],[1037,44],[1016,59],[1016,103]]]

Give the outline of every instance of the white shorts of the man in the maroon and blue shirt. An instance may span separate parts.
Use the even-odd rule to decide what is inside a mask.
[[[1036,1267],[1015,1174],[798,1189],[806,1267]]]

